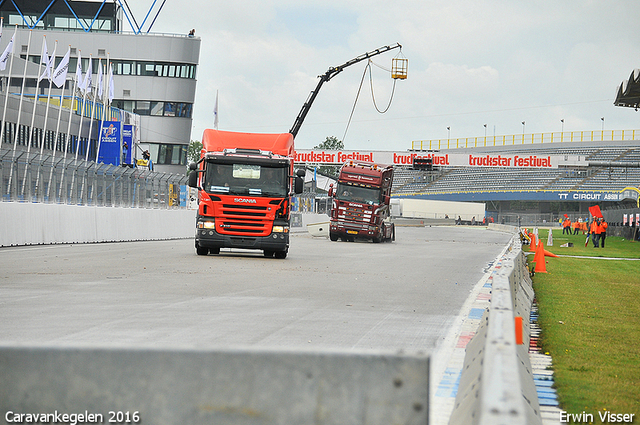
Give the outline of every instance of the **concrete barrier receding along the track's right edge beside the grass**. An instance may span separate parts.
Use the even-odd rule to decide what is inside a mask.
[[[491,225],[500,231],[516,228]],[[491,307],[466,348],[450,425],[542,423],[529,361],[529,313],[533,287],[518,236],[492,275]],[[516,317],[522,343],[516,344]],[[520,332],[518,332],[520,334]]]

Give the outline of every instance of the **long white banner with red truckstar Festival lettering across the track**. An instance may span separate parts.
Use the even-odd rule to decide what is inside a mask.
[[[559,165],[587,165],[584,158],[565,155],[503,155],[440,152],[333,151],[298,149],[295,162],[339,165],[347,161],[367,161],[390,165],[412,165],[416,158],[430,158],[434,167],[558,168]]]

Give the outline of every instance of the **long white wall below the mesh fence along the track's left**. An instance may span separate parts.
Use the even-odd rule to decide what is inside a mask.
[[[195,211],[0,202],[0,246],[193,237]]]

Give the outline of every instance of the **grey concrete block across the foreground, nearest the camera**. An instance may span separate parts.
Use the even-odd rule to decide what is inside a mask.
[[[15,423],[53,423],[13,419],[57,413],[103,415],[84,423],[424,425],[428,373],[417,355],[0,346],[0,414]]]

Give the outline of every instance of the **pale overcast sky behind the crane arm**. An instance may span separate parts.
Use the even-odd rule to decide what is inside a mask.
[[[152,2],[129,3],[141,22]],[[602,117],[605,130],[640,128],[639,112],[613,106],[618,85],[640,68],[637,5],[167,0],[152,32],[195,28],[202,39],[194,140],[213,127],[217,91],[220,130],[287,132],[318,75],[400,43],[408,78],[396,82],[388,112],[376,111],[367,73],[347,131],[367,65],[362,61],[324,84],[296,147],[312,148],[335,136],[344,138],[347,149],[405,150],[412,140],[447,138],[447,127],[452,138],[483,137],[485,124],[487,136],[559,132],[561,120],[564,131],[600,131]],[[372,59],[381,110],[394,86],[385,69],[399,53]]]

